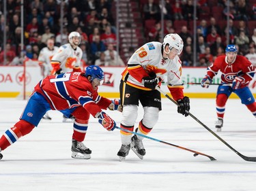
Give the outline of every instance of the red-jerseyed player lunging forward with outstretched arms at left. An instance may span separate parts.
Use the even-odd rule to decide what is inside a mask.
[[[111,101],[98,94],[98,86],[103,82],[104,73],[98,66],[87,67],[85,73],[70,72],[49,75],[36,86],[27,102],[20,120],[0,138],[0,152],[12,145],[20,137],[38,126],[46,111],[61,111],[65,116],[74,116],[72,135],[72,158],[89,159],[91,150],[83,141],[87,132],[89,115],[98,118],[107,131],[113,131],[115,121],[102,109],[120,110],[119,100]],[[3,155],[0,153],[0,159]]]

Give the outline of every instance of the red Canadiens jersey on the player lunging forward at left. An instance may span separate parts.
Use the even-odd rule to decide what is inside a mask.
[[[111,104],[111,100],[100,97],[81,72],[49,75],[35,86],[35,91],[42,94],[54,110],[83,105],[94,117]]]

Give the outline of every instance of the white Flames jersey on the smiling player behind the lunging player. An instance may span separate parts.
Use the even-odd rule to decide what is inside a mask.
[[[61,73],[70,72],[75,67],[81,67],[82,54],[83,52],[78,46],[74,50],[70,44],[64,44],[53,56],[51,64],[60,64]]]

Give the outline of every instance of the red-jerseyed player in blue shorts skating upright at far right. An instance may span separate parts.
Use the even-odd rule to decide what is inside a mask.
[[[230,94],[234,92],[240,97],[242,104],[256,117],[256,103],[248,84],[253,80],[255,68],[244,56],[237,55],[235,45],[228,45],[226,55],[218,56],[214,63],[208,67],[207,74],[201,81],[203,88],[208,88],[212,83],[212,78],[218,71],[222,72],[221,85],[218,86],[216,95],[216,111],[218,120],[216,130],[221,131],[225,114],[225,104]]]

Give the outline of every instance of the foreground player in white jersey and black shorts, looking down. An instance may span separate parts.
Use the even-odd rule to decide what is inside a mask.
[[[120,126],[134,131],[134,123],[138,116],[139,101],[144,109],[143,119],[136,128],[137,133],[147,135],[158,122],[158,113],[162,109],[160,92],[155,90],[158,82],[167,75],[167,84],[171,95],[178,103],[177,112],[188,116],[189,98],[184,97],[182,83],[181,54],[184,43],[176,33],[166,35],[163,43],[152,41],[139,48],[128,60],[122,73],[120,97],[123,106]],[[130,148],[143,159],[145,148],[143,137],[132,136],[120,131],[122,146],[117,153],[122,161]]]

